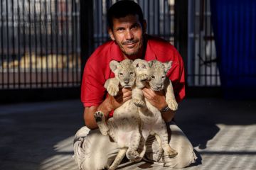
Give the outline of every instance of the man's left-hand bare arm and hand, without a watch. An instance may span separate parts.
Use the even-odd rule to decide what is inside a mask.
[[[90,129],[98,128],[94,117],[94,113],[96,111],[102,111],[102,113],[105,115],[105,118],[108,118],[108,115],[112,110],[118,108],[122,105],[122,103],[128,101],[131,98],[131,89],[120,89],[117,96],[107,96],[107,98],[105,98],[105,100],[99,106],[85,107],[83,114],[85,125]]]

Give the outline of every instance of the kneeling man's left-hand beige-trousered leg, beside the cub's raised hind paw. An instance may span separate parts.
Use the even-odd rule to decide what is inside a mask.
[[[100,130],[82,127],[75,135],[74,157],[79,169],[105,169],[112,164],[118,152],[117,144]]]

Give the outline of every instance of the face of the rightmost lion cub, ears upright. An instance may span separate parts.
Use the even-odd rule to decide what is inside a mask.
[[[171,68],[170,62],[159,62],[152,60],[149,62],[149,86],[154,91],[161,91],[164,89],[164,81],[166,80],[166,74]]]

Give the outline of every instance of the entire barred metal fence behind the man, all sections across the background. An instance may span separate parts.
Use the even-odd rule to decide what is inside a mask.
[[[93,49],[109,40],[107,8],[115,1],[92,1]],[[142,6],[147,33],[178,42],[174,0],[134,1]],[[1,0],[0,89],[80,86],[80,24],[80,0]],[[188,86],[220,86],[210,0],[188,1],[185,60]]]

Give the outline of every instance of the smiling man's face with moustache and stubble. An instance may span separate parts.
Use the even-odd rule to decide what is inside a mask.
[[[146,22],[144,23],[146,26]],[[128,15],[123,18],[113,18],[113,28],[109,30],[110,37],[124,53],[124,57],[138,55],[143,50],[143,29],[139,16]]]

